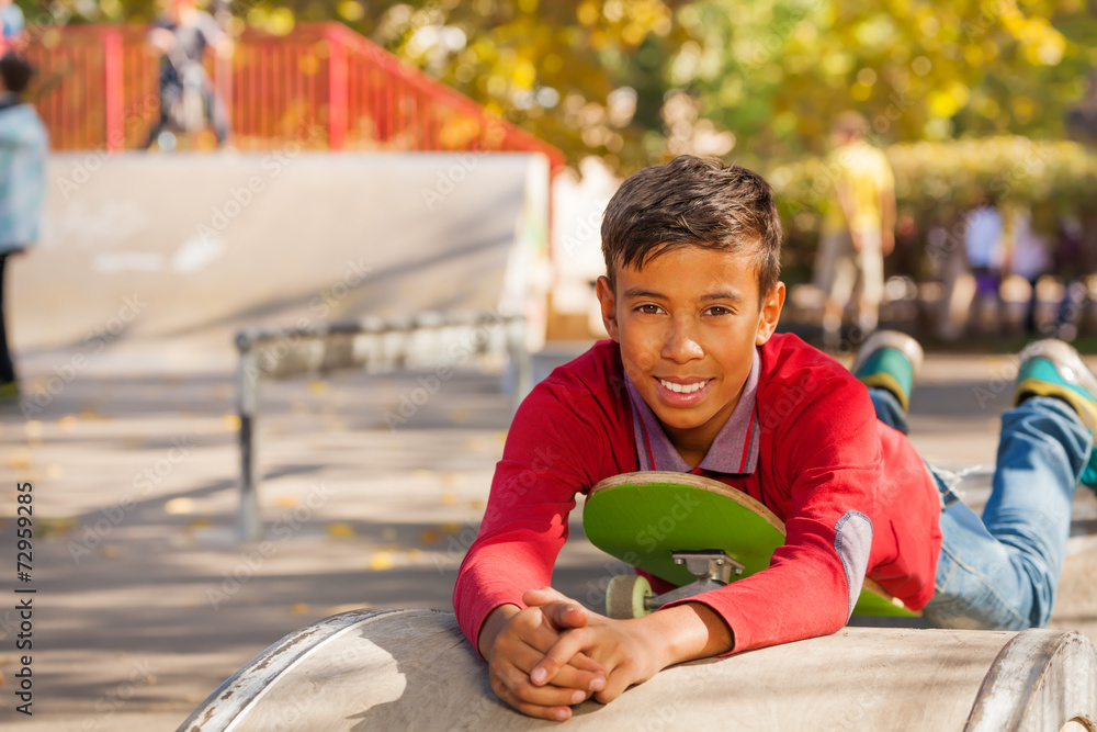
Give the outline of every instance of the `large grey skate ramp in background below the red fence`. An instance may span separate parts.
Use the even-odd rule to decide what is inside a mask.
[[[527,154],[57,155],[12,261],[19,351],[247,325],[525,314],[543,333],[548,167]],[[98,349],[98,350],[97,350]]]

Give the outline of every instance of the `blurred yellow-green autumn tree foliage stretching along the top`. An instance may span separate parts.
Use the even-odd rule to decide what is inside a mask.
[[[215,1],[236,30],[339,20],[573,162],[622,172],[681,151],[764,169],[819,154],[846,109],[884,143],[1060,138],[1097,68],[1094,0]],[[159,5],[18,2],[94,22]]]

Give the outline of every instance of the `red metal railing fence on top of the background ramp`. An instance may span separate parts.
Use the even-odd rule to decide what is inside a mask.
[[[158,54],[146,26],[75,25],[35,38],[37,105],[56,150],[132,149],[159,116]],[[296,142],[330,150],[563,153],[488,113],[339,23],[287,36],[253,31],[230,60],[207,63],[244,150]]]

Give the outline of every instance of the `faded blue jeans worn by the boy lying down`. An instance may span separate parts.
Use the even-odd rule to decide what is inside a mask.
[[[887,391],[870,388],[877,417],[906,433]],[[941,555],[925,608],[938,628],[1043,626],[1066,555],[1071,503],[1093,438],[1065,402],[1036,396],[1002,415],[991,499],[980,517],[930,468],[941,492]]]

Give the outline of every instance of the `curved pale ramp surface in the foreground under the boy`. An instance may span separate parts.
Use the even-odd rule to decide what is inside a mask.
[[[848,628],[668,668],[567,729],[1094,729],[1094,647],[1078,633]],[[179,732],[561,729],[504,706],[452,613],[355,610],[292,633]]]

